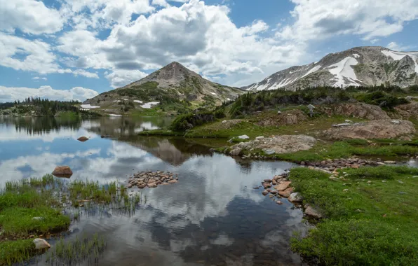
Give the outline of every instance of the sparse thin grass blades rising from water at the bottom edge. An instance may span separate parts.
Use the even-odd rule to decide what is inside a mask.
[[[89,260],[95,265],[98,264],[100,255],[107,248],[104,237],[93,235],[92,239],[76,237],[74,241],[65,242],[60,239],[55,245],[55,250],[47,254],[46,262],[48,265],[77,265],[85,260]],[[54,263],[55,262],[55,263]]]

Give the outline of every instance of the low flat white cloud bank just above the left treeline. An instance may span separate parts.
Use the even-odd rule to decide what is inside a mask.
[[[60,101],[79,100],[83,102],[97,95],[98,93],[95,90],[84,87],[73,87],[71,90],[54,90],[50,86],[39,88],[0,86],[0,102],[22,101],[27,97],[41,97]]]

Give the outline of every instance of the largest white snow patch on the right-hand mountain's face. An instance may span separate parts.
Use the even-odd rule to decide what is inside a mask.
[[[356,83],[357,76],[354,73],[354,69],[351,66],[355,66],[358,64],[358,61],[353,57],[346,57],[342,59],[337,64],[332,64],[328,66],[328,71],[335,76],[334,80],[336,81],[335,86],[337,87],[346,87],[346,86],[360,86],[360,84]],[[346,79],[350,82],[347,84]]]

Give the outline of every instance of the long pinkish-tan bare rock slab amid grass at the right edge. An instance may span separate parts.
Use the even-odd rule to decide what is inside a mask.
[[[346,127],[335,127],[323,132],[323,137],[342,139],[392,139],[415,132],[412,122],[407,120],[372,120]]]

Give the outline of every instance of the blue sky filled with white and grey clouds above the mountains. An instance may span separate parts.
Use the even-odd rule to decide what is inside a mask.
[[[177,61],[241,87],[330,52],[418,50],[418,0],[0,0],[0,102],[84,101]]]

